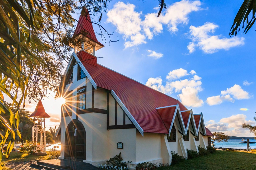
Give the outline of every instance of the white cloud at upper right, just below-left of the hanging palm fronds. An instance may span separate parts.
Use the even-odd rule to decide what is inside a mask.
[[[225,38],[222,35],[210,35],[218,27],[218,25],[210,22],[199,27],[190,26],[189,33],[192,42],[187,46],[189,53],[194,52],[196,47],[207,54],[212,54],[221,49],[229,50],[232,47],[244,45],[245,38],[243,37]]]

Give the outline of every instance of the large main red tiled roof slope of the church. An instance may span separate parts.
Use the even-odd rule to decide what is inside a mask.
[[[156,108],[178,103],[181,110],[187,110],[178,100],[102,65],[82,63],[98,87],[116,93],[144,132],[168,134],[169,128],[166,128]]]

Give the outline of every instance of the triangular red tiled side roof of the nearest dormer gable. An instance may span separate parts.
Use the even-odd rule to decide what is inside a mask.
[[[172,119],[173,119],[176,107],[177,107],[177,105],[173,106],[173,107],[157,109],[157,112],[159,113],[160,117],[162,118],[167,130],[169,130],[171,127],[171,123],[172,123]]]

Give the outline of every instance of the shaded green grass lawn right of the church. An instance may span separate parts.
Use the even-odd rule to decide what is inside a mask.
[[[159,169],[256,169],[255,152],[221,151]]]

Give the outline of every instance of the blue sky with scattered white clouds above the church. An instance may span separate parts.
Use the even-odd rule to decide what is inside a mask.
[[[203,112],[211,131],[253,136],[241,123],[253,124],[256,111],[255,27],[247,34],[228,35],[242,1],[166,3],[156,18],[158,1],[111,1],[101,24],[115,31],[111,39],[119,41],[96,51],[104,57],[98,63],[165,92],[193,113]],[[99,32],[96,25],[94,29]],[[52,121],[57,124],[56,112]]]

